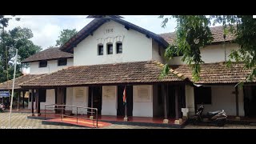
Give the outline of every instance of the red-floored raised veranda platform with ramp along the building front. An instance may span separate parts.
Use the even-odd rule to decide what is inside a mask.
[[[88,115],[79,115],[78,122],[77,118],[60,118],[59,115],[47,115],[46,119],[44,114],[41,116],[27,116],[27,118],[42,119],[42,124],[54,124],[62,126],[80,126],[80,127],[94,127],[93,121]],[[186,126],[187,122],[182,124],[174,124],[174,120],[169,118],[169,123],[162,123],[163,118],[146,118],[146,117],[129,117],[128,122],[123,121],[123,116],[98,116],[98,127],[110,126],[111,124],[117,125],[132,125],[132,126],[158,126],[158,127],[170,127],[170,128],[182,128]]]

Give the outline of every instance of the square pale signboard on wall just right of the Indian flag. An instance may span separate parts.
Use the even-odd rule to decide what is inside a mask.
[[[151,102],[150,86],[137,86],[134,102]]]

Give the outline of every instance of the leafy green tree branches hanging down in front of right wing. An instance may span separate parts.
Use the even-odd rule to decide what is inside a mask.
[[[165,27],[170,19],[163,15],[159,18],[163,18],[162,27]],[[244,62],[246,69],[253,69],[246,78],[248,81],[256,76],[256,20],[252,15],[174,15],[171,18],[177,19],[177,38],[174,44],[166,49],[166,60],[169,61],[175,53],[182,53],[182,61],[192,67],[194,81],[199,80],[200,64],[203,63],[200,49],[213,40],[210,26],[216,23],[222,24],[224,37],[229,33],[234,34],[234,42],[241,47],[231,52],[228,63],[231,64],[231,59],[234,59],[237,62]],[[168,72],[169,66],[166,65],[161,76]]]

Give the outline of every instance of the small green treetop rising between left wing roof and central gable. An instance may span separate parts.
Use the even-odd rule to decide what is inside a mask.
[[[69,29],[65,29],[61,31],[61,35],[58,36],[58,40],[56,41],[56,45],[55,46],[63,46],[68,40],[70,40],[70,38],[72,38],[74,36],[74,34],[77,34],[77,30],[73,29],[73,30],[69,30]]]

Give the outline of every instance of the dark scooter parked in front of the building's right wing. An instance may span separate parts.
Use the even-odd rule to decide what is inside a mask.
[[[194,125],[214,125],[214,126],[224,126],[226,124],[227,115],[224,110],[218,110],[213,112],[207,112],[206,115],[202,115],[204,106],[199,106],[197,113],[192,118]]]

